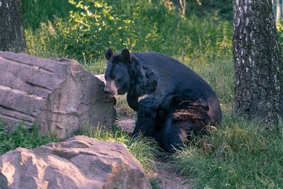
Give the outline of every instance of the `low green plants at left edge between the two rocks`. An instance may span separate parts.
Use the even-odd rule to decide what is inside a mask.
[[[13,132],[8,133],[5,122],[0,118],[0,155],[17,147],[33,149],[48,142],[59,142],[56,135],[52,135],[52,137],[49,137],[45,134],[39,134],[36,125],[28,127],[24,120],[16,125]]]

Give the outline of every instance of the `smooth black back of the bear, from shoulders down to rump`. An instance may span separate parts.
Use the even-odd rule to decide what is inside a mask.
[[[187,98],[199,98],[209,103],[209,115],[221,121],[221,108],[216,94],[195,71],[178,60],[156,52],[132,52],[143,67],[151,68],[158,76],[157,90],[160,93],[182,94]]]

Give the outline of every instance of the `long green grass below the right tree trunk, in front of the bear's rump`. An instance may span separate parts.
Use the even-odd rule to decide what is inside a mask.
[[[196,139],[200,145],[175,154],[178,170],[192,178],[192,188],[281,188],[283,130],[263,126],[224,112],[220,127]]]

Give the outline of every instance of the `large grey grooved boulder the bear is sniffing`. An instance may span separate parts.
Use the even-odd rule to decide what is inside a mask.
[[[0,52],[0,117],[10,130],[20,118],[61,139],[66,130],[70,137],[86,124],[112,127],[115,98],[103,88],[103,81],[76,61]]]

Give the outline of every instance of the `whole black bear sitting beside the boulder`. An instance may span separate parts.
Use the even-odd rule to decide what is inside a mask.
[[[127,93],[137,110],[132,134],[154,137],[165,151],[179,149],[192,134],[221,122],[221,108],[212,88],[176,59],[155,52],[113,54],[106,50],[105,93]]]

